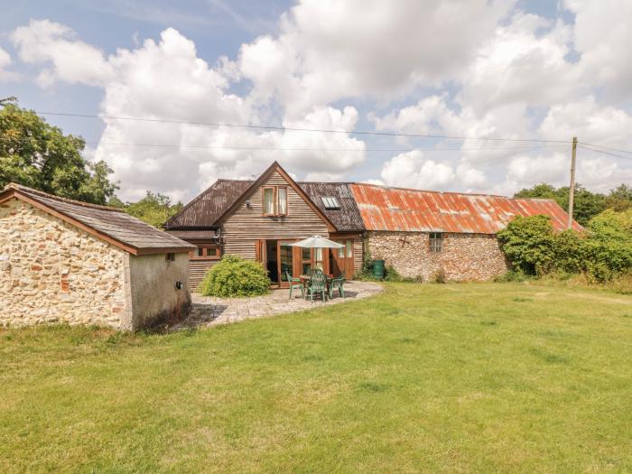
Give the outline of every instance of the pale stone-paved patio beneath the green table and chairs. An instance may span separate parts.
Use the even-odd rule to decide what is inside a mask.
[[[264,296],[252,298],[218,298],[215,296],[202,296],[200,293],[192,293],[191,313],[185,321],[181,321],[170,330],[215,326],[248,320],[252,318],[264,318],[283,312],[311,310],[341,302],[352,302],[381,293],[381,284],[369,282],[346,282],[345,298],[341,298],[336,292],[332,300],[322,302],[305,301],[300,292],[293,292],[290,300],[290,290],[274,290]]]

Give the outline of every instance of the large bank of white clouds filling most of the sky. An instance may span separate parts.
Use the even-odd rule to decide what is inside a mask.
[[[159,41],[109,56],[47,20],[10,37],[17,57],[39,68],[42,86],[64,81],[102,88],[104,115],[340,131],[368,118],[381,131],[549,140],[577,135],[631,149],[632,63],[625,46],[632,30],[623,19],[632,16],[632,4],[563,0],[562,8],[575,14],[574,22],[565,23],[561,14],[556,20],[525,14],[513,0],[300,0],[280,18],[278,34],[243,44],[237,58],[215,64],[171,28]],[[2,61],[0,50],[0,71],[8,64]],[[355,107],[347,106],[351,100]],[[363,116],[366,109],[379,112]],[[148,188],[187,199],[217,177],[251,177],[274,159],[302,179],[349,179],[367,156],[365,142],[346,133],[106,125],[94,156],[115,167],[128,199]],[[568,178],[567,144],[529,150],[531,143],[473,139],[395,143],[414,150],[388,160],[376,181],[511,193]],[[424,154],[421,148],[431,145],[460,150]],[[578,180],[607,191],[631,181],[628,162],[581,149]]]

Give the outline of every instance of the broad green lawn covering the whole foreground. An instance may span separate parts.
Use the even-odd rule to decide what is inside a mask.
[[[630,472],[631,316],[404,283],[169,335],[0,330],[0,472]]]

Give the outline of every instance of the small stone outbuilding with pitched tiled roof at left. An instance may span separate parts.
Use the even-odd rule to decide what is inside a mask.
[[[0,192],[0,325],[138,330],[181,318],[193,248],[121,209],[9,184]]]

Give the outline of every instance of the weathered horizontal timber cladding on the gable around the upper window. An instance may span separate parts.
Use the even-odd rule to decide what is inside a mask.
[[[288,186],[287,216],[263,216],[262,188],[267,185]],[[315,234],[329,237],[327,224],[278,172],[271,174],[265,184],[253,191],[247,200],[250,201],[250,208],[246,208],[246,202],[243,202],[222,223],[224,255],[233,254],[255,260],[255,243],[258,239],[301,239]]]

